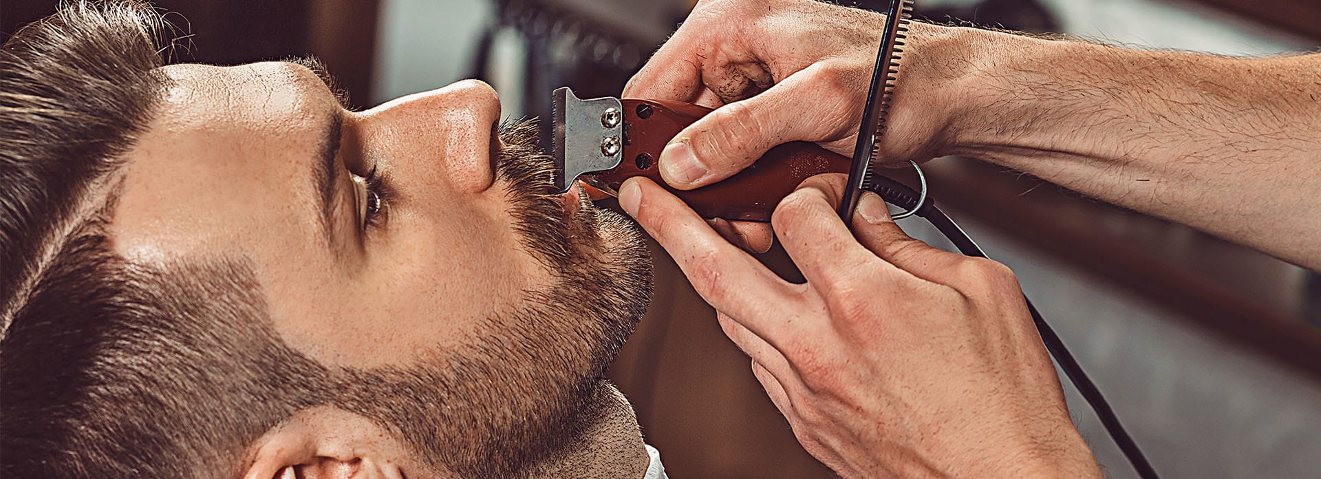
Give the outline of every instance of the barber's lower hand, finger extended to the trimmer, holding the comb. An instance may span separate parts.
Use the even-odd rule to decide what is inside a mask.
[[[913,240],[843,175],[771,217],[807,282],[785,282],[680,200],[630,179],[620,204],[720,312],[799,442],[841,476],[1099,476],[1013,274]]]

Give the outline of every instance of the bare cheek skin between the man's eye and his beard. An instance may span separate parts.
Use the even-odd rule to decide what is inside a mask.
[[[490,209],[490,210],[487,210]],[[320,335],[334,359],[359,367],[410,364],[468,341],[482,319],[511,311],[550,273],[523,251],[502,208],[465,204],[390,218],[388,238],[325,300],[334,328]]]

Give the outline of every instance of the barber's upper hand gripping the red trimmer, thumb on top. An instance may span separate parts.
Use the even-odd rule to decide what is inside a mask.
[[[666,183],[703,187],[794,140],[852,155],[884,19],[811,0],[700,1],[624,89],[626,98],[716,109],[662,152]],[[934,58],[956,30],[913,24],[884,163],[935,156],[952,114],[951,85],[942,78],[958,67],[935,66]]]

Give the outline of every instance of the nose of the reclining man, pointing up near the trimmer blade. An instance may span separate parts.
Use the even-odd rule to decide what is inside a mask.
[[[380,142],[391,163],[419,184],[446,183],[461,193],[480,193],[495,181],[491,152],[499,95],[485,82],[465,79],[400,97],[358,119],[365,136]]]

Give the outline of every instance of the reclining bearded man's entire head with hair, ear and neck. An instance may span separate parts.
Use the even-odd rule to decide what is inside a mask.
[[[460,82],[353,112],[317,65],[161,66],[73,4],[0,54],[5,478],[643,476],[602,377],[650,298]]]

